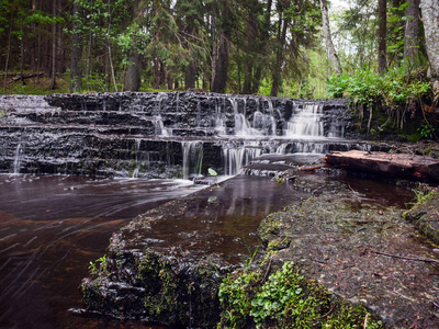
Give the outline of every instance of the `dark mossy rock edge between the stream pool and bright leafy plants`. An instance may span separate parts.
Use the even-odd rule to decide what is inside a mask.
[[[218,285],[234,266],[214,253],[190,249],[200,239],[196,231],[179,234],[189,245],[160,247],[167,238],[154,238],[155,223],[165,214],[178,220],[187,206],[182,201],[167,204],[113,235],[104,261],[81,284],[88,310],[171,327],[215,327]]]

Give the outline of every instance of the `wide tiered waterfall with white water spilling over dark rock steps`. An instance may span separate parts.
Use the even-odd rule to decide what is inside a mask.
[[[189,178],[213,168],[236,174],[261,154],[361,147],[340,139],[352,133],[342,101],[98,93],[3,95],[0,109],[0,172]]]

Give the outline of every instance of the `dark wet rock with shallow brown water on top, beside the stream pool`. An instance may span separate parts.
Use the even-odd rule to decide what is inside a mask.
[[[83,281],[87,308],[120,318],[214,328],[223,276],[260,246],[255,236],[260,214],[307,195],[289,191],[286,184],[240,175],[136,217],[113,234],[104,262],[97,262]]]

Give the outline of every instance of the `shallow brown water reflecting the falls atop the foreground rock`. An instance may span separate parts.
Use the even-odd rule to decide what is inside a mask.
[[[215,253],[230,263],[241,263],[261,243],[256,236],[260,220],[305,196],[308,193],[288,183],[237,175],[221,188],[191,195],[189,208],[181,214],[154,222],[148,246]]]

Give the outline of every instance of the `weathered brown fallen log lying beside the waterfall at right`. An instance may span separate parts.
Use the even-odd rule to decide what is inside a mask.
[[[350,150],[326,155],[328,166],[413,180],[439,181],[439,160],[431,157]]]

